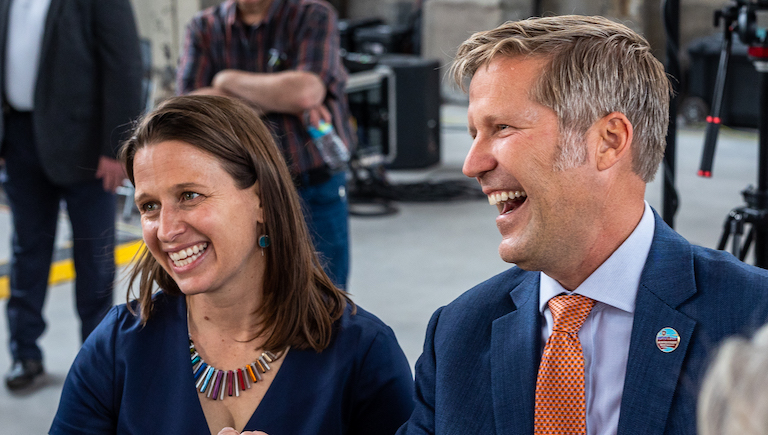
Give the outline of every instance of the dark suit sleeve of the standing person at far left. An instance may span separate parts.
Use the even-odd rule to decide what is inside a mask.
[[[93,2],[101,72],[101,155],[114,158],[144,106],[141,48],[129,0]]]

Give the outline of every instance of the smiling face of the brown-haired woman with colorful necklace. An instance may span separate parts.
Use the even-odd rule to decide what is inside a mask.
[[[253,286],[264,267],[258,183],[238,188],[216,157],[181,141],[140,148],[133,171],[144,242],[184,294]]]

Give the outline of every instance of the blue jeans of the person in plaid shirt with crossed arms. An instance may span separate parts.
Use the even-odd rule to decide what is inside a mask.
[[[299,189],[304,218],[323,269],[334,284],[344,289],[349,276],[349,204],[347,174]]]

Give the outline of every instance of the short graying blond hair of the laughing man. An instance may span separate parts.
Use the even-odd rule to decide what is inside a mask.
[[[530,97],[557,114],[558,169],[583,164],[589,127],[620,112],[633,126],[633,170],[645,182],[653,180],[664,156],[672,87],[645,38],[603,17],[509,21],[466,40],[451,74],[466,90],[465,81],[499,55],[549,60]]]

